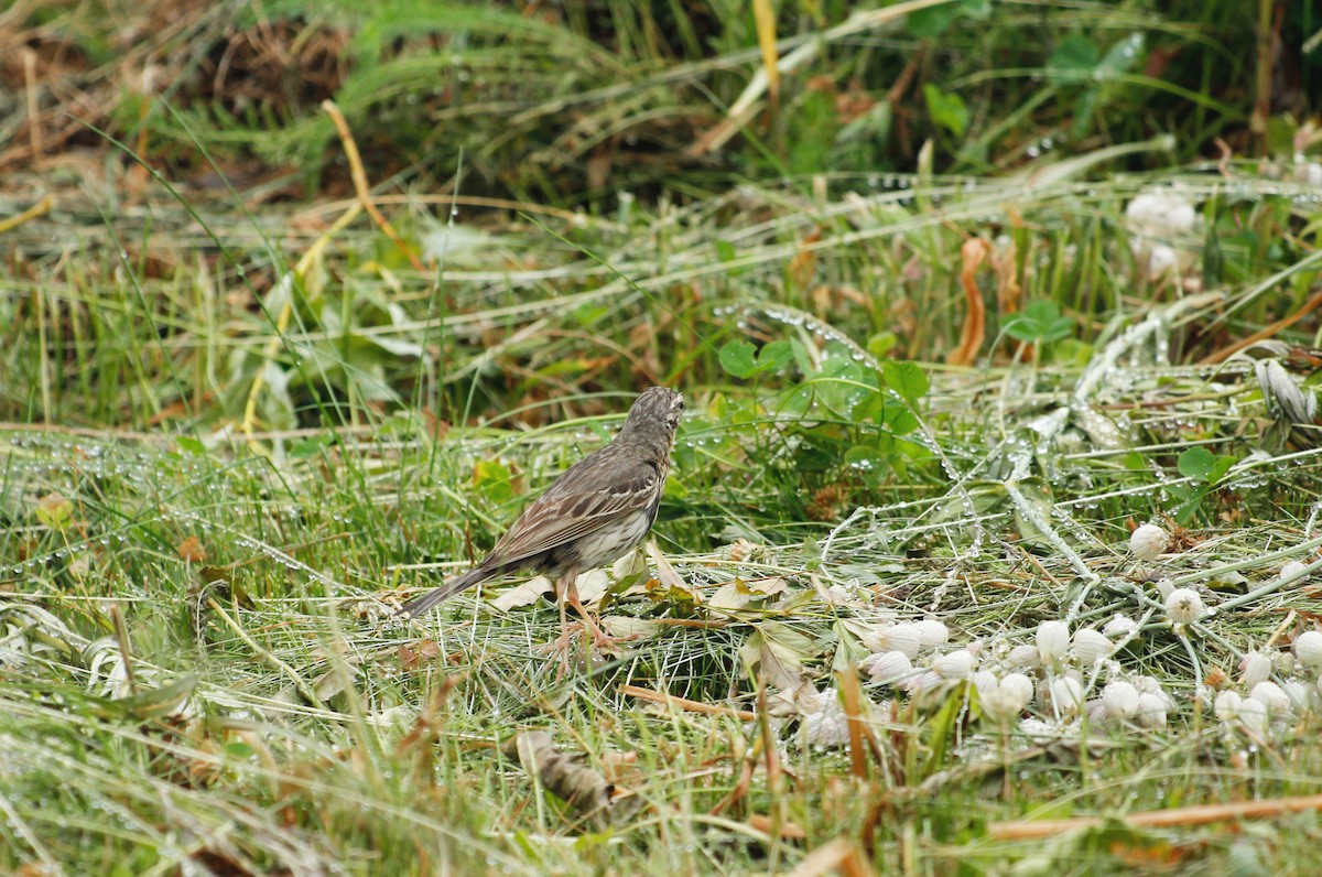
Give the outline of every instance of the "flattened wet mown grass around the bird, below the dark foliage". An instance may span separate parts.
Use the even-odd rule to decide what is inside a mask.
[[[1252,216],[1315,210],[1247,171]],[[1216,295],[1134,286],[1118,217],[1138,183],[896,183],[640,210],[571,230],[578,253],[493,217],[460,253],[461,216],[461,267],[439,280],[369,262],[383,250],[361,231],[328,238],[292,286],[260,247],[234,250],[245,275],[200,272],[178,242],[167,276],[95,250],[38,263],[40,294],[5,299],[4,405],[89,426],[5,430],[4,866],[738,873],[845,837],[882,872],[1306,868],[1314,812],[1048,843],[1001,824],[1319,791],[1313,669],[1286,660],[1319,602],[1306,571],[1281,579],[1315,564],[1313,434],[1286,440],[1281,388],[1265,401],[1252,360],[1188,365],[1240,333],[1210,331],[1218,315],[1288,310],[1257,290],[1276,271],[1307,290],[1310,257],[1245,253]],[[1182,192],[1219,187],[1190,176]],[[1007,198],[1022,225],[995,246],[1015,242],[1025,299],[1055,310],[974,368],[878,358],[954,345],[960,266],[943,254]],[[161,251],[143,235],[164,234],[169,206],[153,214],[116,235]],[[209,222],[222,242],[246,234]],[[274,242],[280,224],[263,226]],[[1015,349],[1025,332],[1038,345]],[[656,530],[673,574],[621,567],[603,608],[640,639],[578,652],[558,679],[554,606],[492,608],[517,582],[415,626],[391,616],[480,556],[652,380],[691,413]],[[106,419],[136,429],[91,426]],[[1129,530],[1149,520],[1179,532],[1137,564]],[[1173,626],[1158,579],[1222,608]],[[1013,717],[988,712],[985,675],[1014,669],[1043,620],[1073,632],[1117,614],[1132,624],[1110,630],[1113,655],[1019,667],[1040,690]],[[894,684],[865,672],[851,745],[846,667],[921,619],[949,642]],[[973,684],[949,663],[970,644]],[[1303,701],[1218,716],[1220,690],[1248,696],[1255,651]],[[1052,689],[1071,676],[1081,718]],[[1158,685],[1159,718],[1107,716],[1114,681]],[[498,754],[526,728],[627,791],[608,829]]]

